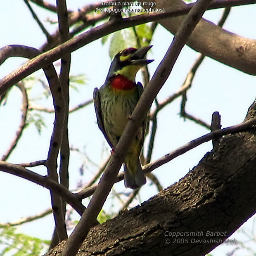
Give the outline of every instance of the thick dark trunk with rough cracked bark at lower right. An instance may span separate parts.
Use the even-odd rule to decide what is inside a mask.
[[[245,120],[253,117],[256,102]],[[178,183],[92,228],[77,255],[204,255],[256,212],[255,184],[254,128],[219,139],[218,145]],[[197,234],[170,237],[166,231]],[[207,231],[224,234],[207,236]],[[188,239],[187,243],[178,238]],[[46,255],[59,255],[63,243]]]

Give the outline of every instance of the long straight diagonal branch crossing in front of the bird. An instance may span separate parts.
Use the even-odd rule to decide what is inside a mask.
[[[107,199],[111,187],[114,184],[115,177],[119,171],[119,168],[121,167],[121,164],[123,163],[131,141],[133,137],[135,137],[136,130],[138,129],[143,116],[147,115],[147,111],[154,101],[154,98],[171,73],[174,63],[178,58],[181,49],[185,45],[187,38],[190,36],[194,27],[201,19],[201,16],[209,6],[210,2],[211,1],[209,0],[198,0],[191,9],[190,13],[187,15],[183,24],[180,26],[175,38],[166,52],[166,55],[164,56],[164,59],[159,64],[152,77],[152,80],[142,93],[142,96],[140,97],[140,100],[133,111],[131,119],[128,121],[123,135],[115,148],[115,152],[107,164],[107,167],[92,196],[88,208],[85,210],[81,220],[78,222],[71,236],[66,241],[62,252],[63,256],[76,255],[79,247],[92,227],[92,221],[97,218],[97,215],[100,213],[100,210]]]

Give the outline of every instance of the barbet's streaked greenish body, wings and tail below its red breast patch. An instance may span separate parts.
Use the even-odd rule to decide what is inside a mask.
[[[111,88],[110,82],[102,85],[100,90],[95,88],[97,122],[111,148],[116,147],[128,122],[128,116],[133,113],[142,91],[141,84],[130,91],[117,91]],[[144,141],[145,125],[146,121],[143,120],[125,159],[125,185],[133,189],[146,183],[139,158]]]

